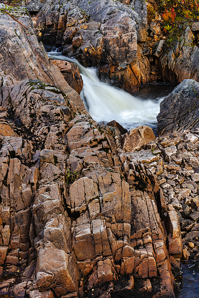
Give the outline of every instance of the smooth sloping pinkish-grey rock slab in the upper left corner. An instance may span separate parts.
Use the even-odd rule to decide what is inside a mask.
[[[5,4],[0,4],[0,8],[9,10],[28,28],[28,30],[25,29],[7,13],[1,11],[0,69],[6,75],[4,80],[8,80],[4,85],[12,84],[13,79],[15,81],[41,80],[67,92],[68,97],[85,110],[78,93],[64,80],[58,67],[49,61],[43,44],[36,38],[33,22],[27,11],[24,8],[8,7]]]

